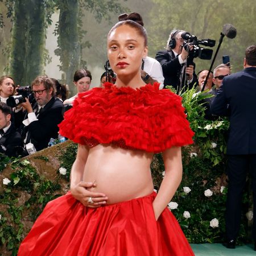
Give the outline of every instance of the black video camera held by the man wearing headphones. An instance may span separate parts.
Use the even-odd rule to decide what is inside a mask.
[[[212,59],[212,49],[200,47],[199,44],[202,46],[214,47],[215,40],[212,39],[203,39],[198,40],[196,36],[189,34],[188,32],[183,32],[181,34],[181,38],[184,39],[183,47],[186,51],[188,51],[189,46],[193,46],[193,49],[189,51],[188,61],[192,64],[193,59],[195,57],[199,57],[202,60],[210,60]]]

